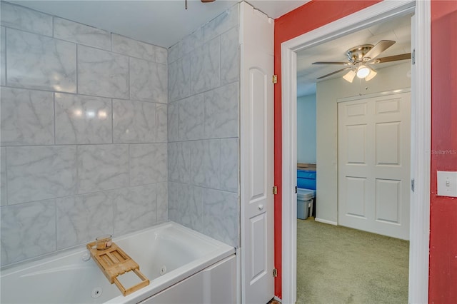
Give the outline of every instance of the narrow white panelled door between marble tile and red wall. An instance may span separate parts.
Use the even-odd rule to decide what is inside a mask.
[[[265,304],[273,278],[273,20],[241,6],[241,298]]]

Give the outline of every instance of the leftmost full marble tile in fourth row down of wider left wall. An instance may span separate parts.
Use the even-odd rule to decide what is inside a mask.
[[[9,204],[76,193],[76,146],[8,147],[6,154]]]

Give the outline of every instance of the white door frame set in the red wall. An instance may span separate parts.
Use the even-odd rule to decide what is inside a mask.
[[[296,302],[296,52],[408,12],[415,12],[411,34],[416,51],[411,79],[413,129],[421,134],[411,146],[416,191],[411,193],[408,302],[428,303],[431,16],[430,1],[421,0],[381,1],[281,44],[283,303]]]

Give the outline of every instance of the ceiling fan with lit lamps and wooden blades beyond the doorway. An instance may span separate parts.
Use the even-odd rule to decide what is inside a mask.
[[[357,76],[358,78],[365,78],[366,81],[371,80],[376,76],[377,72],[371,67],[371,64],[383,64],[390,61],[398,61],[411,59],[411,53],[405,53],[394,56],[387,56],[378,58],[378,56],[386,51],[389,47],[395,44],[395,41],[392,40],[381,40],[375,46],[373,44],[363,44],[361,46],[355,46],[352,49],[346,51],[346,56],[348,56],[347,62],[338,62],[338,61],[318,61],[313,62],[313,64],[341,64],[346,66],[343,69],[334,71],[330,74],[319,77],[318,79],[326,78],[333,74],[337,74],[342,71],[349,70],[343,78],[346,81],[352,82],[353,79]]]

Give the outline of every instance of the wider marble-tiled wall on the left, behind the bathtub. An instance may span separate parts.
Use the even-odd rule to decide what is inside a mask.
[[[4,1],[0,20],[1,265],[167,221],[168,51]]]

